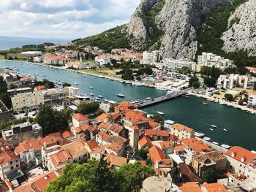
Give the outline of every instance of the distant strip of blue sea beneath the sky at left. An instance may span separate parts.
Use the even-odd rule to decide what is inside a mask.
[[[44,42],[54,44],[69,42],[68,39],[34,39],[23,37],[0,37],[0,50],[7,50],[13,47],[22,47],[23,45],[38,45]]]

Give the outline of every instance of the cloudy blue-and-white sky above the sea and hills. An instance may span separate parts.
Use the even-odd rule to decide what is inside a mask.
[[[140,0],[0,1],[0,36],[76,39],[128,23]]]

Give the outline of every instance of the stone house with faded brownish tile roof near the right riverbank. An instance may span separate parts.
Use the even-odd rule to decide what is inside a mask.
[[[192,167],[199,177],[202,177],[203,173],[210,168],[217,172],[223,172],[226,166],[227,158],[223,155],[222,151],[214,150],[208,153],[193,155],[192,157]]]

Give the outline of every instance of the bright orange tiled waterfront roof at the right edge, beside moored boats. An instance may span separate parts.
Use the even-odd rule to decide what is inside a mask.
[[[250,152],[249,150],[244,149],[243,147],[232,147],[230,150],[227,150],[226,155],[231,158],[235,158],[237,161],[240,161],[243,164],[249,164],[252,160],[256,158],[256,154]]]

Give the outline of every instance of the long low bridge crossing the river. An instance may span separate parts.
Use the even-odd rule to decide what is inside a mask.
[[[150,99],[146,102],[143,102],[142,104],[137,104],[138,108],[148,107],[153,104],[158,104],[163,101],[167,101],[173,98],[177,98],[178,96],[183,96],[187,94],[187,91],[173,91],[173,93],[167,93],[165,96],[159,96],[154,99]]]

